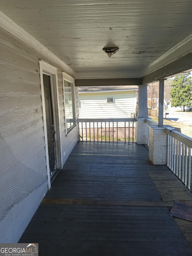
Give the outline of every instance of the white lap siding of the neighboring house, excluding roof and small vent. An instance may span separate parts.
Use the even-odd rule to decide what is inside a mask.
[[[79,118],[129,118],[135,112],[136,90],[79,93]],[[107,103],[114,98],[114,103]]]

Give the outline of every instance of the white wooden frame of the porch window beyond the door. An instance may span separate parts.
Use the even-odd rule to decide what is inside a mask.
[[[65,119],[65,134],[68,136],[70,131],[73,130],[73,128],[76,127],[76,102],[75,102],[75,80],[70,75],[66,74],[65,72],[62,72],[63,77],[63,98],[64,98],[64,119]],[[72,111],[73,111],[73,122],[74,124],[70,126],[70,128],[67,129],[67,116],[66,116],[66,103],[65,103],[65,88],[64,88],[64,81],[67,81],[72,84],[71,86],[71,94],[72,94]]]

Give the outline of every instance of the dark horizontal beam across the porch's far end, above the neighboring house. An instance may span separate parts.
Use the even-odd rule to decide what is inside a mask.
[[[75,79],[75,86],[141,85],[141,78]]]

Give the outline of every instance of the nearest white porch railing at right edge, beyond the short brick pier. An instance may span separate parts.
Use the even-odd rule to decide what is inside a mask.
[[[171,128],[166,128],[166,133],[168,134],[167,166],[192,191],[192,138]]]

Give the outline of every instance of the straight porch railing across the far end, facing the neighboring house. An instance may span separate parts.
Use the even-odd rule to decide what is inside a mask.
[[[135,141],[135,118],[77,119],[79,140]]]

